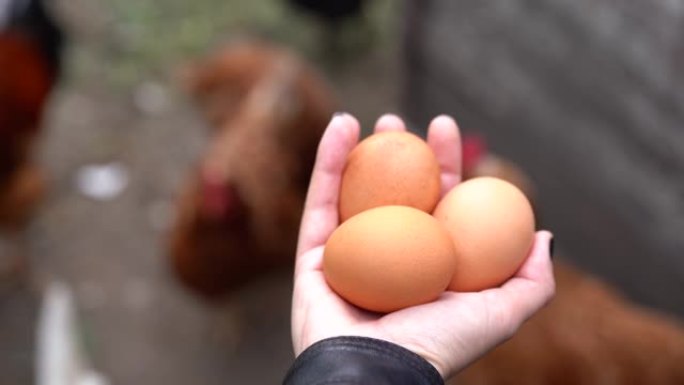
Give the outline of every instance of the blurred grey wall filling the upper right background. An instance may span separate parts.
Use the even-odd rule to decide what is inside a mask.
[[[560,252],[684,316],[684,1],[413,0],[404,110],[489,137]]]

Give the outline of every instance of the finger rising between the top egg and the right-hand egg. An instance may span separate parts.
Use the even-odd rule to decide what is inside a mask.
[[[430,122],[427,143],[442,170],[442,196],[461,181],[461,136],[456,122],[440,115]]]

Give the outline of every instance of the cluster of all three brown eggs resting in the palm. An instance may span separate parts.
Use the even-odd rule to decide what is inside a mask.
[[[328,285],[361,308],[387,313],[480,291],[515,274],[534,242],[525,195],[497,178],[441,196],[440,165],[409,132],[376,133],[349,154],[340,225],[325,245]]]

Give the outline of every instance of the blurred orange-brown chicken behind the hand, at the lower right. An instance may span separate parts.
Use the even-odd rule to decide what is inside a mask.
[[[515,164],[465,136],[464,176],[497,176],[529,194]],[[684,326],[637,306],[567,262],[554,261],[556,297],[509,341],[457,375],[459,385],[684,384]]]

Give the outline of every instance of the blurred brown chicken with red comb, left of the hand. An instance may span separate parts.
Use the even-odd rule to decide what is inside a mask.
[[[217,298],[292,266],[334,101],[300,59],[262,43],[221,52],[190,83],[215,130],[179,200],[170,254],[185,285]]]

